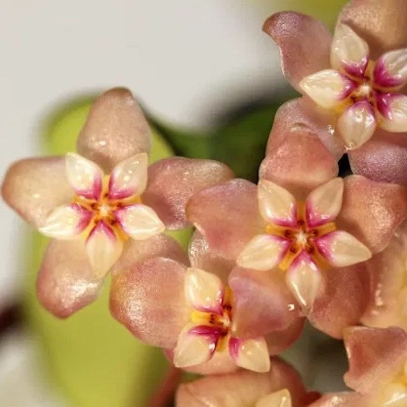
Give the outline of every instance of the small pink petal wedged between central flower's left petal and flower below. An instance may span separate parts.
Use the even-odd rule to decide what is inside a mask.
[[[208,241],[197,230],[189,242],[188,253],[192,267],[216,274],[223,283],[226,283],[230,271],[235,267],[235,261],[214,253]]]

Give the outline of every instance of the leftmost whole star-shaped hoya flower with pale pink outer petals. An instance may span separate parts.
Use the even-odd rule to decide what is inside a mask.
[[[157,242],[172,245],[151,239],[166,228],[186,227],[189,197],[232,177],[211,160],[173,157],[148,167],[150,145],[148,123],[131,93],[112,89],[92,106],[79,154],[29,158],[9,168],[4,199],[52,238],[37,294],[55,315],[69,316],[95,300],[129,246],[148,251]]]

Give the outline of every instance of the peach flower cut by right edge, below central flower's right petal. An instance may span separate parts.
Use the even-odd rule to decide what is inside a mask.
[[[386,250],[373,256],[367,267],[370,301],[362,323],[407,330],[407,222],[397,228]]]

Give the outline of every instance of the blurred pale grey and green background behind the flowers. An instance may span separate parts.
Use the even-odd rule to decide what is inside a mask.
[[[344,3],[3,0],[1,173],[22,157],[72,150],[95,95],[123,85],[148,115],[155,158],[216,158],[254,180],[275,110],[294,95],[261,25],[297,10],[332,27]],[[112,321],[106,290],[68,321],[43,311],[34,284],[46,242],[3,202],[0,217],[0,406],[148,405],[166,374],[161,353]],[[311,345],[305,336],[288,358]],[[328,383],[305,358],[298,367],[310,386],[340,387],[335,369]]]

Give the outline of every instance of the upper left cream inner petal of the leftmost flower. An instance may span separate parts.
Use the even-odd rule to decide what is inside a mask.
[[[103,171],[94,162],[76,153],[65,156],[66,175],[77,195],[98,199],[102,191]]]

